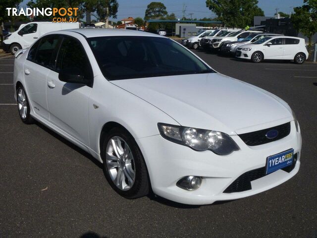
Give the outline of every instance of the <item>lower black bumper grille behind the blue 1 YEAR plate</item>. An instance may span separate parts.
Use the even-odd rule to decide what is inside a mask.
[[[293,163],[290,166],[283,168],[287,173],[290,173],[296,165],[297,162],[297,154],[294,155]],[[249,172],[244,173],[243,175],[239,176],[238,179],[234,180],[223,192],[224,193],[232,193],[232,192],[243,192],[247,190],[251,190],[251,181],[256,179],[261,179],[265,175],[265,167],[260,169],[251,170]]]

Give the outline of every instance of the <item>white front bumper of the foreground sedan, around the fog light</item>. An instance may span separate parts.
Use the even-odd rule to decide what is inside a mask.
[[[259,146],[247,146],[238,135],[231,136],[241,150],[227,156],[211,151],[197,152],[189,147],[170,142],[160,135],[137,139],[147,163],[154,193],[166,199],[193,205],[211,204],[251,196],[291,179],[299,170],[302,138],[296,132],[294,121],[288,136]],[[266,158],[281,151],[294,149],[298,153],[294,169],[288,173],[278,170],[251,182],[252,189],[224,193],[238,177],[251,170],[263,168]],[[187,191],[176,182],[185,176],[200,176],[202,184],[194,191]]]

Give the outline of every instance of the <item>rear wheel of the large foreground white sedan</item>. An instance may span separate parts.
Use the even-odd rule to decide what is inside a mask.
[[[19,85],[16,89],[16,99],[21,120],[25,124],[32,124],[34,119],[30,115],[29,100],[22,85]]]

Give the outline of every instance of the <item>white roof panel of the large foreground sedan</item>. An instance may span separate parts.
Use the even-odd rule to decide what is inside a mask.
[[[55,31],[54,33],[76,32],[86,38],[100,37],[100,36],[152,36],[152,37],[164,37],[153,33],[144,31],[131,31],[125,29],[100,29],[100,28],[79,28],[69,29],[62,31]]]

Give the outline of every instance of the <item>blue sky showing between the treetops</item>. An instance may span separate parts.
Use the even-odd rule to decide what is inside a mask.
[[[29,0],[24,0],[22,6]],[[117,19],[121,20],[128,16],[132,17],[144,17],[145,9],[152,0],[117,0],[119,2],[119,10],[117,13]],[[190,17],[189,13],[194,13],[193,18],[214,17],[212,13],[206,7],[206,0],[153,0],[164,3],[168,13],[174,12],[179,18],[182,17],[183,3],[186,5],[186,16]],[[273,16],[275,8],[279,8],[278,11],[289,13],[294,6],[301,6],[303,0],[259,0],[259,6],[264,10],[265,16]],[[290,7],[292,6],[292,7]]]

